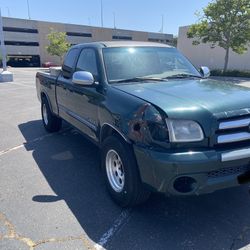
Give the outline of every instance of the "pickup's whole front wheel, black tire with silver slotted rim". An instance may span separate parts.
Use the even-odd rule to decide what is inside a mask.
[[[142,185],[132,148],[115,136],[102,146],[102,170],[107,189],[122,207],[138,205],[148,199],[150,192]]]

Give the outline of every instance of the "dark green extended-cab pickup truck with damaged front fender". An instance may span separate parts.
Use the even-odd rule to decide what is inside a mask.
[[[38,72],[36,88],[45,129],[59,131],[63,119],[97,144],[107,189],[128,207],[151,192],[250,181],[250,89],[208,77],[168,45],[95,42]]]

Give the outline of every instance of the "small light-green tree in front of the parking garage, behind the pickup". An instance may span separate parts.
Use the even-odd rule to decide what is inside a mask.
[[[60,62],[63,61],[63,56],[70,47],[70,43],[67,41],[67,35],[65,32],[57,32],[54,29],[50,29],[50,33],[47,35],[49,40],[49,46],[46,47],[47,52],[52,56],[58,56]]]

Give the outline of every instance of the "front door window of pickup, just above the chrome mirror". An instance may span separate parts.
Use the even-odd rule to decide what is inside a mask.
[[[96,53],[93,49],[83,49],[76,65],[76,71],[88,71],[98,78]]]

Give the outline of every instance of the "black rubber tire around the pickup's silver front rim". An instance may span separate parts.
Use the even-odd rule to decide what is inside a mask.
[[[123,187],[119,191],[112,187],[112,181],[110,181],[106,167],[106,158],[109,159],[108,155],[113,151],[118,153],[121,159],[125,177]],[[101,150],[101,161],[107,189],[117,204],[122,207],[132,207],[143,203],[149,198],[150,192],[145,189],[141,182],[134,152],[127,143],[116,136],[105,139]],[[116,176],[118,177],[118,175]]]

